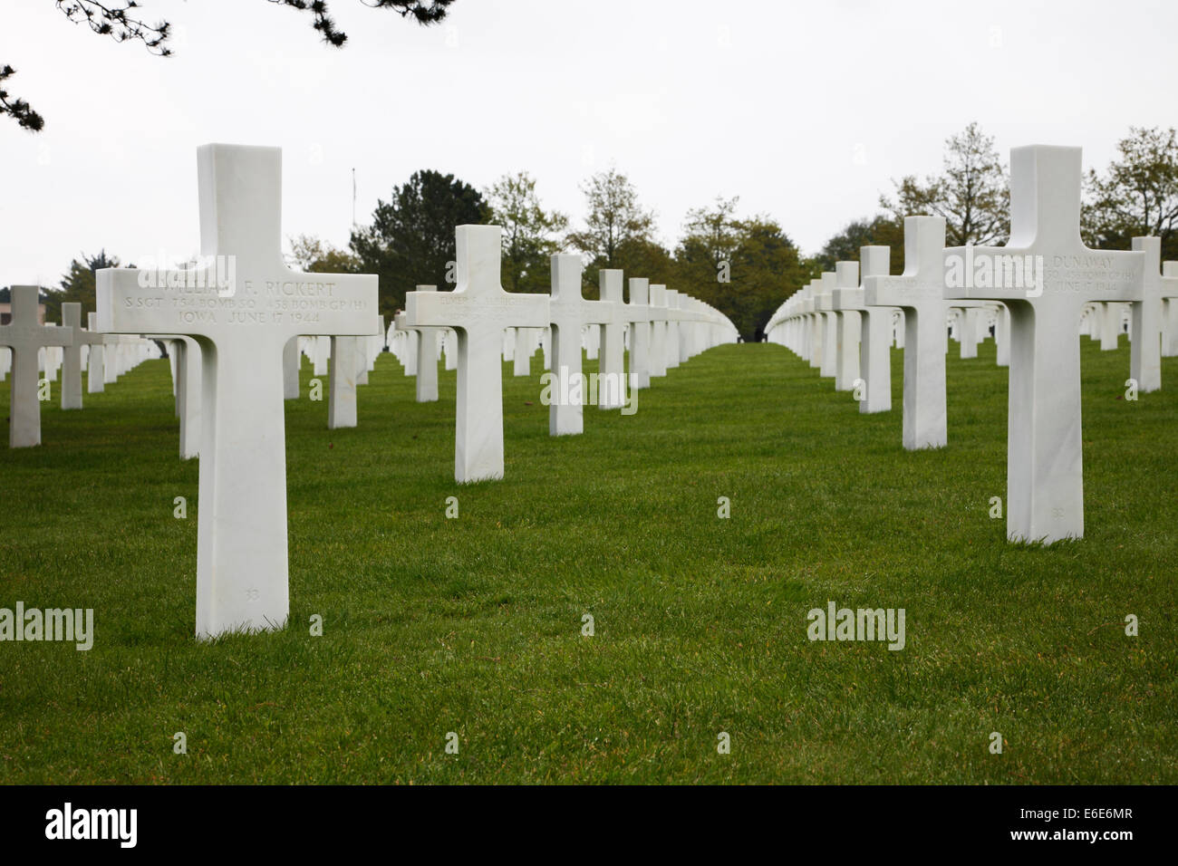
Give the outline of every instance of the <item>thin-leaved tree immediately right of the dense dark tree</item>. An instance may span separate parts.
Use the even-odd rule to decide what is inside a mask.
[[[485,192],[491,222],[503,227],[503,287],[509,292],[548,292],[550,257],[561,251],[558,236],[568,218],[545,211],[528,172],[504,174]]]

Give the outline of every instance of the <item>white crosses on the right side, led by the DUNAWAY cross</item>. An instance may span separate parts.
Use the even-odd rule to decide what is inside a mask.
[[[828,300],[822,287],[851,284],[851,269],[823,275],[819,285],[790,297],[767,326],[769,339],[839,376],[840,335],[833,317],[819,311],[855,309],[871,318],[873,308],[904,311],[905,381],[904,447],[939,448],[947,443],[945,412],[946,315],[962,304],[992,309],[999,363],[1010,364],[1007,432],[1007,537],[1011,541],[1078,538],[1084,535],[1083,449],[1080,435],[1081,318],[1086,332],[1107,339],[1107,317],[1116,305],[1132,311],[1130,376],[1140,392],[1160,388],[1163,323],[1178,325],[1178,264],[1160,263],[1158,238],[1134,238],[1132,251],[1097,251],[1079,233],[1081,159],[1078,147],[1018,147],[1011,154],[1011,239],[1005,247],[945,249],[945,222],[939,217],[905,220],[905,272],[887,275],[886,252],[863,247],[862,296],[838,290]],[[1031,289],[952,287],[947,269],[965,260],[1019,257],[1043,262],[1041,283]],[[968,257],[972,257],[969,259]],[[1027,258],[1030,257],[1030,258]],[[1035,258],[1041,257],[1041,258]],[[832,286],[833,287],[833,286]],[[859,304],[862,304],[860,308]],[[990,306],[987,306],[990,305]],[[968,316],[969,310],[965,313]],[[966,319],[962,319],[966,322]],[[1119,318],[1117,319],[1119,324]],[[867,397],[862,411],[882,411],[888,401],[876,394],[888,365],[878,352],[882,329],[868,326],[862,368]],[[1114,331],[1116,333],[1116,331]],[[962,350],[968,339],[962,333]],[[1169,337],[1166,351],[1169,351]],[[842,344],[845,348],[845,344]],[[1116,337],[1113,337],[1116,345]],[[879,357],[876,357],[876,353]],[[852,371],[836,386],[846,386]]]

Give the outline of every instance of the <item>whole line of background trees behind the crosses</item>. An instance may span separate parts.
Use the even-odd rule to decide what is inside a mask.
[[[582,184],[584,214],[576,226],[544,207],[528,172],[504,174],[477,190],[452,174],[422,170],[377,201],[370,222],[353,227],[346,249],[297,236],[290,239],[290,263],[306,271],[377,273],[380,312],[391,317],[416,285],[448,287],[455,226],[495,224],[503,227],[508,291],[547,292],[549,257],[574,251],[585,263],[588,298],[597,297],[597,271],[617,267],[712,304],[744,339],[760,339],[760,329],[785,298],[833,270],[835,262],[858,259],[860,246],[891,246],[892,272],[902,272],[906,216],[945,217],[951,246],[1004,244],[1008,179],[993,138],[971,124],[945,141],[940,172],[894,180],[893,190],[880,196],[879,212],[853,219],[816,254],[806,256],[770,216],[741,216],[736,197],[717,197],[689,211],[679,239],[663,245],[654,212],[614,167]],[[1131,127],[1108,166],[1090,170],[1084,198],[1081,234],[1090,246],[1129,249],[1132,237],[1154,234],[1162,238],[1163,258],[1178,260],[1178,133]],[[94,270],[118,265],[105,251],[71,262],[60,285],[46,292],[47,319],[60,319],[65,300],[94,309]],[[6,299],[0,290],[0,302]]]

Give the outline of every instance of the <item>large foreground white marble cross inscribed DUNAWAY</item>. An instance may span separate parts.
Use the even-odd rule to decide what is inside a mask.
[[[1011,541],[1051,543],[1084,536],[1080,311],[1090,300],[1133,302],[1143,293],[1144,252],[1090,250],[1080,239],[1080,189],[1079,147],[1013,148],[1011,240],[1005,247],[974,247],[973,259],[1014,256],[1043,262],[1040,283],[1031,289],[1006,285],[1005,279],[997,287],[946,285],[946,298],[1000,300],[1011,311]],[[946,267],[962,252],[946,250]]]

